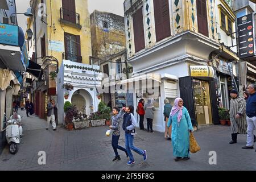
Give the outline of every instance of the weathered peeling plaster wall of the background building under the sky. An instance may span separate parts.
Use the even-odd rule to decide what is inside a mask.
[[[106,22],[108,28],[104,28]],[[114,55],[125,49],[125,24],[122,16],[95,10],[90,15],[93,57]]]

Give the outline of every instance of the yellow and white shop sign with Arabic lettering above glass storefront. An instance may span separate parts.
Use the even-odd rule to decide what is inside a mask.
[[[214,69],[209,66],[189,66],[192,77],[212,77],[214,76]]]

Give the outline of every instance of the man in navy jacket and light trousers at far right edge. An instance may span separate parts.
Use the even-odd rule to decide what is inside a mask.
[[[246,104],[246,122],[247,122],[247,139],[246,146],[243,149],[253,149],[254,143],[254,130],[256,128],[256,85],[251,84],[247,87],[247,91],[250,94]],[[256,152],[256,150],[255,150]]]

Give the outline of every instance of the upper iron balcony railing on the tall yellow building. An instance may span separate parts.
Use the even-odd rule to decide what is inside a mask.
[[[62,23],[68,24],[69,26],[80,28],[80,14],[73,11],[60,8],[60,21]]]

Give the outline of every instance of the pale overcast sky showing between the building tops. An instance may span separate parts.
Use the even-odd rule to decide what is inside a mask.
[[[94,10],[99,10],[123,16],[123,2],[124,0],[88,0],[89,13],[92,13]],[[16,0],[16,7],[17,13],[24,13],[27,11],[28,7],[30,7],[30,0]],[[22,27],[25,32],[27,28],[27,16],[17,15],[17,17],[19,26]]]

